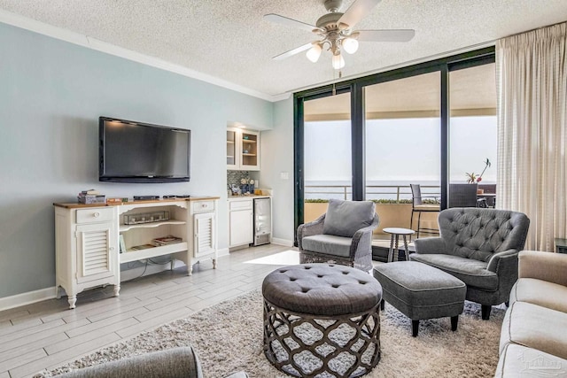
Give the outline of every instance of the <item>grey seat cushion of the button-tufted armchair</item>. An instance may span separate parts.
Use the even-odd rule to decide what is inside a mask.
[[[467,286],[474,286],[487,291],[498,289],[498,275],[487,270],[488,263],[484,261],[453,255],[419,253],[412,253],[409,258],[412,261],[435,266],[448,274],[453,274]]]

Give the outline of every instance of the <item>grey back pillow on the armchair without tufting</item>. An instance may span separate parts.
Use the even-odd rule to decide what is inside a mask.
[[[359,229],[372,225],[375,214],[374,207],[374,203],[371,201],[330,199],[322,233],[353,237]]]

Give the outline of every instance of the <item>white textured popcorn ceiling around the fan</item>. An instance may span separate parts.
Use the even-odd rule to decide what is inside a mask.
[[[345,0],[345,11],[352,0]],[[323,0],[0,0],[0,10],[88,35],[197,73],[279,96],[332,81],[330,53],[317,63],[299,53],[305,30],[262,19],[277,13],[315,24]],[[566,0],[383,0],[355,29],[412,28],[410,42],[361,42],[343,77],[375,73],[567,20]]]

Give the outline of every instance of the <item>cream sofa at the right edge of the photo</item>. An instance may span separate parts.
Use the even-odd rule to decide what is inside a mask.
[[[519,253],[495,376],[567,376],[567,254]]]

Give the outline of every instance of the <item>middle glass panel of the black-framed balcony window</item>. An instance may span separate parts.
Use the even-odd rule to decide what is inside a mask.
[[[439,72],[369,85],[364,97],[365,197],[376,202],[380,235],[383,228],[412,227],[410,184],[440,197]],[[436,214],[426,215],[420,227],[432,228],[425,223]]]

